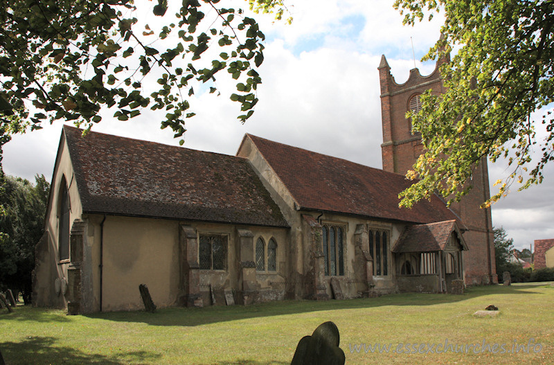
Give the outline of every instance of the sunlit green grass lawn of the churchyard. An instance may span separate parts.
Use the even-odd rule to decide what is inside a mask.
[[[472,315],[489,304],[497,317]],[[337,324],[346,364],[554,364],[554,283],[154,314],[66,316],[19,306],[0,310],[0,350],[8,365],[290,364],[298,340],[324,321]],[[490,350],[481,352],[483,341]],[[372,353],[375,344],[392,346]],[[400,347],[404,353],[393,352]]]

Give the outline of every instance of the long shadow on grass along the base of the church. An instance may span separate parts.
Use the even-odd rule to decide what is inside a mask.
[[[155,313],[147,312],[105,312],[89,314],[87,317],[108,321],[148,323],[152,326],[202,326],[209,323],[237,321],[256,317],[269,317],[307,312],[377,308],[385,305],[419,306],[456,303],[494,294],[542,294],[534,291],[537,285],[502,285],[470,287],[463,295],[453,294],[389,294],[370,299],[346,299],[341,301],[275,301],[256,305],[210,306],[205,308],[166,308]],[[490,304],[485,304],[483,308]]]

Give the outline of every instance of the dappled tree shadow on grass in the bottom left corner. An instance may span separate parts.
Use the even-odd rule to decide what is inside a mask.
[[[145,351],[114,356],[87,354],[71,347],[55,346],[53,337],[29,337],[19,342],[0,342],[6,364],[129,364],[156,362],[159,355]]]

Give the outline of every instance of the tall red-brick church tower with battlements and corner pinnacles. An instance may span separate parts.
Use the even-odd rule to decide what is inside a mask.
[[[449,57],[439,60],[433,73],[428,76],[422,76],[418,69],[412,69],[408,80],[404,84],[397,84],[385,56],[381,57],[378,69],[381,84],[383,170],[405,175],[422,154],[421,136],[419,133],[412,133],[411,120],[406,118],[406,112],[418,112],[421,109],[420,95],[424,91],[431,89],[431,92],[438,94],[445,91],[439,66],[449,61]],[[465,225],[463,237],[469,248],[469,251],[464,252],[465,283],[498,283],[490,208],[479,207],[490,197],[486,159],[476,166],[472,185],[472,190],[460,203],[450,206]]]

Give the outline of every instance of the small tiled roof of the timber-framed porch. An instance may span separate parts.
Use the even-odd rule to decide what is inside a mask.
[[[456,230],[456,221],[447,220],[429,224],[415,224],[407,227],[396,241],[393,252],[432,252],[442,251],[450,234]],[[458,236],[461,238],[461,235]],[[462,238],[463,240],[463,238]],[[462,246],[465,244],[462,241]]]

